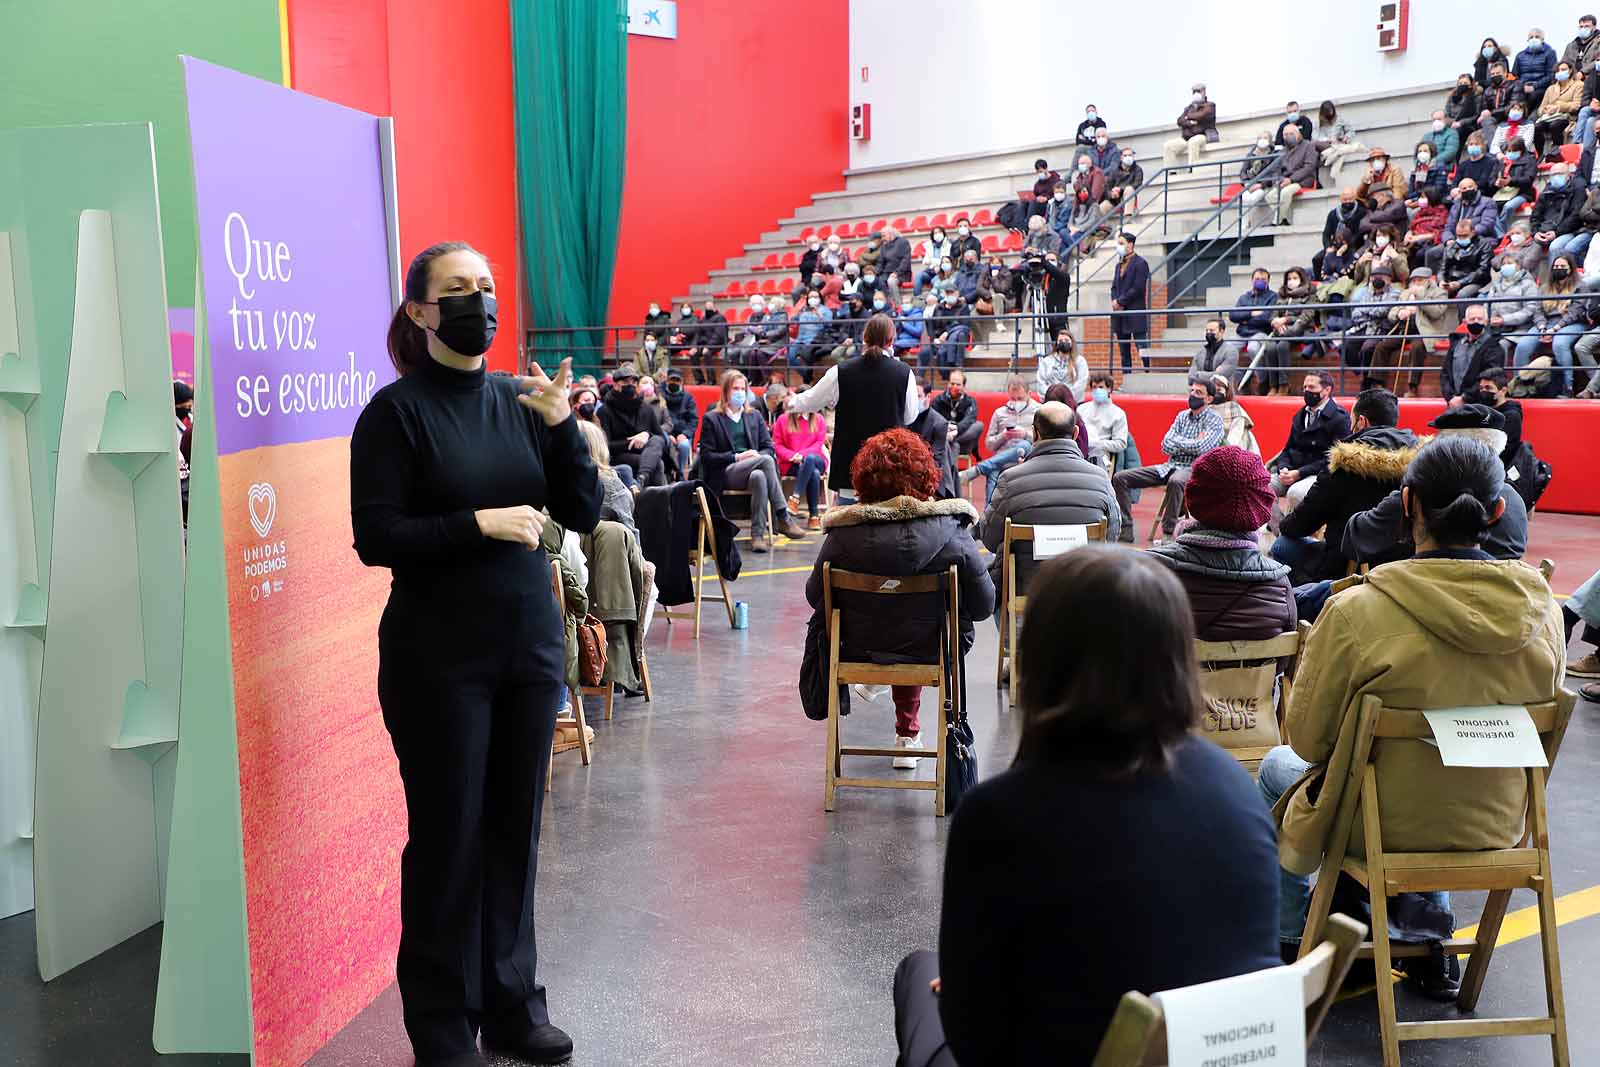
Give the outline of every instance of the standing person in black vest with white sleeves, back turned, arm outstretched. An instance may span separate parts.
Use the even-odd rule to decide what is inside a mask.
[[[861,331],[861,355],[827,368],[822,381],[789,397],[789,410],[797,414],[837,408],[827,488],[843,504],[856,499],[850,464],[867,438],[910,426],[922,414],[917,378],[893,355],[894,320],[874,315]]]

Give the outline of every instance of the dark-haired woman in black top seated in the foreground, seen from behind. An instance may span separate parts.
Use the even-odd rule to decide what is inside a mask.
[[[939,952],[894,974],[902,1067],[1086,1064],[1128,990],[1278,965],[1272,819],[1194,733],[1194,643],[1144,553],[1082,547],[1035,574],[1016,761],[957,808]]]

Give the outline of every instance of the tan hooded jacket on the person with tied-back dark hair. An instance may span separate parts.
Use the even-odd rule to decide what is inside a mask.
[[[1283,867],[1310,873],[1330,846],[1362,697],[1414,709],[1547,701],[1562,685],[1565,653],[1562,613],[1544,577],[1475,550],[1387,563],[1330,598],[1288,704],[1286,733],[1314,766],[1274,809]],[[1403,739],[1378,741],[1373,761],[1384,848],[1472,851],[1522,838],[1522,769],[1446,768],[1438,749]],[[1350,848],[1362,841],[1357,819]]]

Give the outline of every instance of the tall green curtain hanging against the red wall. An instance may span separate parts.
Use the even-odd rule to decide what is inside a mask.
[[[510,0],[517,202],[533,355],[603,355],[627,141],[627,0]],[[558,333],[544,333],[555,330]]]

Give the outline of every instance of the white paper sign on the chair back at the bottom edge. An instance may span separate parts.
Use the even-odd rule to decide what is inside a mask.
[[[1171,1067],[1306,1067],[1301,973],[1278,966],[1157,993]]]

